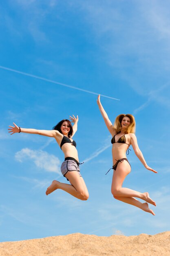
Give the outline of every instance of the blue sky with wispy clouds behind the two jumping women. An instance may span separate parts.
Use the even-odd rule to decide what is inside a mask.
[[[170,230],[170,3],[169,1],[16,0],[0,5],[0,241],[75,232],[110,236]],[[114,122],[135,115],[136,135],[147,164],[131,151],[125,187],[148,191],[156,216],[113,199],[110,135],[95,94]],[[7,132],[13,121],[23,128],[51,130],[78,115],[81,173],[90,197],[64,191],[46,196],[64,159],[54,139]],[[130,147],[132,149],[132,147]]]

